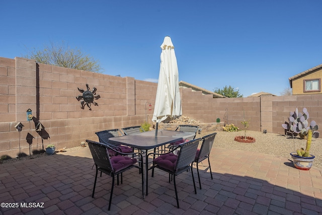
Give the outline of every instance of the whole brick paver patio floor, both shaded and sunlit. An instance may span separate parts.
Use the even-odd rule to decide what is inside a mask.
[[[322,169],[297,170],[288,158],[214,147],[214,179],[201,164],[202,189],[194,169],[197,194],[191,173],[178,177],[179,209],[167,174],[149,174],[149,194],[142,199],[140,175],[133,169],[123,174],[123,184],[116,185],[110,211],[111,177],[99,177],[95,198],[91,197],[93,163],[86,147],[1,165],[0,202],[15,204],[1,207],[0,213],[322,214]]]

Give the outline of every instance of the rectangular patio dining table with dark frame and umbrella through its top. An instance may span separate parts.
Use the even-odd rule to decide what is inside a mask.
[[[145,177],[147,177],[148,150],[155,149],[157,147],[164,146],[166,144],[170,144],[172,142],[176,142],[182,139],[191,138],[194,135],[195,133],[193,132],[158,130],[157,135],[155,135],[155,131],[146,131],[146,132],[140,132],[140,133],[135,133],[130,135],[111,137],[109,138],[109,140],[111,141],[112,144],[116,144],[116,145],[121,144],[128,147],[133,147],[135,149],[145,150]],[[145,178],[144,178],[144,181],[145,181]]]

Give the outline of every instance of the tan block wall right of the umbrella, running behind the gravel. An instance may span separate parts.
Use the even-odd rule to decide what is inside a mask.
[[[201,122],[216,122],[220,118],[224,124],[234,124],[243,129],[241,121],[250,121],[249,130],[284,134],[282,124],[288,121],[289,112],[302,112],[306,107],[309,121],[322,126],[322,94],[295,96],[263,96],[247,98],[216,98],[181,89],[183,115]],[[322,136],[321,136],[322,137]]]

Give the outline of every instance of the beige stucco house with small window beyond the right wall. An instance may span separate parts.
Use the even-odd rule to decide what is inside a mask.
[[[321,94],[322,64],[289,78],[292,95]]]

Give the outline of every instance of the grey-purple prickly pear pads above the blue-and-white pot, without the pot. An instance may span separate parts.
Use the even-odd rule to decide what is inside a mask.
[[[314,120],[308,124],[308,118],[309,114],[306,108],[303,108],[303,113],[299,113],[296,108],[294,112],[290,112],[290,116],[288,117],[289,123],[282,124],[282,127],[286,130],[297,133],[301,139],[306,138],[308,130],[312,130],[312,137],[318,138],[319,132],[316,131],[318,129],[318,125]]]

